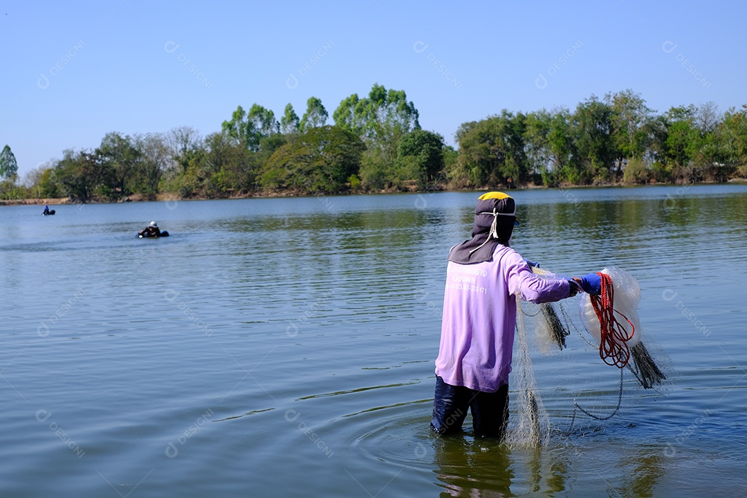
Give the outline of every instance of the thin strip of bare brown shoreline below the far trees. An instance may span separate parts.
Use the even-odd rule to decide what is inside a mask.
[[[689,185],[713,185],[713,184],[745,184],[747,178],[733,178],[726,182],[715,182],[715,181],[699,181]],[[434,192],[477,192],[480,190],[491,190],[492,188],[498,188],[498,190],[539,190],[539,189],[581,189],[581,188],[607,188],[607,187],[677,187],[683,184],[678,183],[653,183],[653,184],[597,184],[597,185],[558,185],[556,187],[545,187],[544,185],[524,185],[523,187],[476,187],[476,188],[462,188],[462,189],[437,189],[437,190],[409,190],[402,192],[400,190],[380,190],[377,192],[348,192],[348,193],[296,193],[296,192],[274,192],[274,193],[252,193],[246,195],[232,195],[225,197],[182,197],[176,193],[164,192],[158,194],[132,194],[124,199],[117,201],[91,201],[85,204],[118,204],[120,202],[165,202],[165,201],[216,201],[216,200],[227,200],[227,199],[272,199],[275,197],[326,197],[326,196],[360,196],[360,195],[380,195],[380,194],[397,194],[397,193],[434,193]],[[81,202],[73,202],[69,197],[58,197],[58,198],[46,198],[46,199],[2,199],[0,200],[0,206],[19,206],[19,205],[66,205],[66,204],[82,204]]]

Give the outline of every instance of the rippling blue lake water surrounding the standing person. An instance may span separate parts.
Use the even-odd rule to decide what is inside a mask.
[[[595,420],[619,370],[533,348],[536,449],[429,429],[477,195],[0,207],[0,495],[744,496],[747,186],[513,193],[524,257],[638,279],[669,376]]]

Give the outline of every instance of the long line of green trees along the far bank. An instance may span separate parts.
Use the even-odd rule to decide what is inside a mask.
[[[116,201],[183,198],[727,181],[747,176],[747,106],[712,102],[657,114],[638,93],[590,96],[574,111],[506,110],[456,130],[458,149],[421,129],[403,90],[374,84],[329,113],[311,97],[277,119],[239,106],[202,137],[111,132],[93,150],[65,150],[19,184],[10,147],[0,154],[0,197]]]

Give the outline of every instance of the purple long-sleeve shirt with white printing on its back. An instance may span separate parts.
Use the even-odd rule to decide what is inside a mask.
[[[498,245],[491,261],[446,270],[436,375],[450,385],[493,393],[509,381],[518,294],[540,303],[568,297],[565,279],[536,276],[513,249]]]

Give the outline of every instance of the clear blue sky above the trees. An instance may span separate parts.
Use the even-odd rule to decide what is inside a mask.
[[[630,89],[663,113],[747,103],[741,1],[4,1],[0,147],[19,174],[109,131],[220,131],[238,105],[332,113],[405,90],[453,144],[502,109]]]

